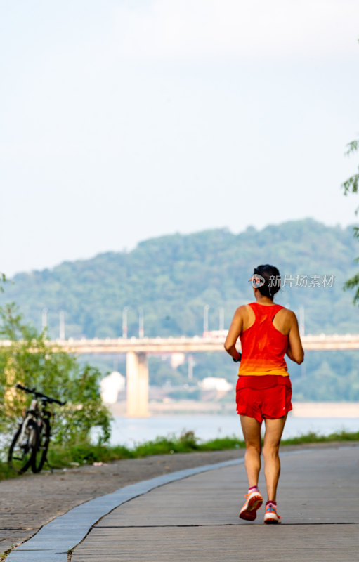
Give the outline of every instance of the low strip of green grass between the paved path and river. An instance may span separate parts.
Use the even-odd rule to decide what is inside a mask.
[[[282,440],[282,445],[303,445],[306,443],[330,443],[337,441],[359,441],[359,431],[348,433],[340,431],[322,436],[318,433],[306,433],[292,439]],[[186,431],[181,436],[158,437],[152,441],[138,443],[133,448],[124,445],[69,445],[59,447],[52,444],[48,452],[48,460],[54,468],[67,468],[93,462],[110,462],[119,459],[137,459],[150,455],[174,455],[180,452],[219,451],[244,448],[244,441],[235,436],[216,438],[202,443],[192,431]],[[45,466],[46,468],[46,466]],[[5,462],[0,462],[0,480],[18,476],[8,468]]]

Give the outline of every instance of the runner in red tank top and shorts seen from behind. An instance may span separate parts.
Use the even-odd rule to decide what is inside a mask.
[[[254,521],[263,503],[258,489],[261,469],[261,424],[264,474],[268,501],[264,523],[280,523],[276,492],[280,476],[279,446],[287,413],[292,410],[292,385],[284,356],[303,362],[304,352],[294,312],[273,303],[280,289],[280,273],[274,266],[258,266],[252,281],[256,302],[235,311],[224,347],[235,362],[240,361],[236,388],[237,412],[240,414],[246,443],[244,466],[249,490],[240,518]],[[240,337],[242,354],[235,348]]]

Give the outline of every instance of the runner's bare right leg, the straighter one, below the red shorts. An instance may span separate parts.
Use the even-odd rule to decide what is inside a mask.
[[[279,419],[265,419],[266,433],[263,442],[264,475],[268,500],[275,502],[277,485],[280,476],[279,445],[287,415]]]

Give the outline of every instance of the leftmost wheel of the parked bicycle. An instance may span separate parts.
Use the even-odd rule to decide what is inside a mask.
[[[22,427],[16,431],[8,450],[8,464],[18,473],[24,473],[32,464],[32,457],[37,446],[37,425],[32,419],[26,421],[25,430]]]

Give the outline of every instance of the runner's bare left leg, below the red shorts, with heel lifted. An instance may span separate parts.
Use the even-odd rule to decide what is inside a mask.
[[[248,416],[240,416],[240,423],[246,442],[244,466],[247,471],[249,488],[251,488],[258,485],[259,471],[261,470],[261,424],[253,417]]]

